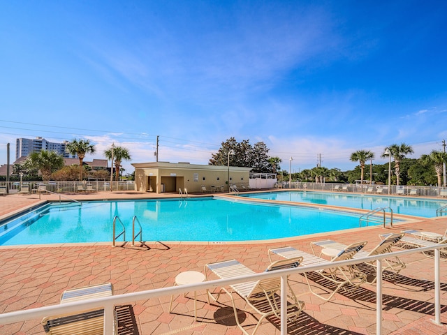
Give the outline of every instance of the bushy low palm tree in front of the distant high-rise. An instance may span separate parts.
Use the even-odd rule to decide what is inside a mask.
[[[41,170],[42,180],[48,181],[52,172],[64,166],[64,158],[56,151],[34,151],[29,154],[23,166],[27,170]]]

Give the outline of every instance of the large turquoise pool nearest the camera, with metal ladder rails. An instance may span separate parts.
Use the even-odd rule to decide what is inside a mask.
[[[115,216],[126,226],[126,241],[132,239],[133,216],[142,225],[145,241],[278,239],[358,228],[360,217],[326,209],[211,198],[89,201],[82,206],[53,203],[0,225],[0,245],[112,241]]]

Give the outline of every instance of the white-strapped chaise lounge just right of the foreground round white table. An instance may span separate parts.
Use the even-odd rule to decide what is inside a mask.
[[[277,262],[273,262],[265,271],[274,271],[277,269],[291,269],[293,267],[298,267],[300,262],[302,261],[301,257],[291,258],[288,260],[279,260]],[[248,267],[242,265],[237,260],[227,260],[223,262],[216,262],[212,264],[205,265],[205,276],[208,279],[208,271],[211,271],[213,274],[217,275],[219,278],[232,278],[235,276],[244,276],[249,274],[255,274],[253,270]],[[298,315],[301,313],[302,308],[304,308],[305,303],[303,301],[298,301],[295,293],[293,292],[290,285],[288,286],[288,297],[293,299],[292,304],[287,304],[287,318],[288,320],[296,320]],[[280,318],[281,312],[281,299],[279,295],[276,293],[281,290],[281,277],[277,278],[268,278],[263,279],[261,281],[250,281],[247,283],[237,283],[230,285],[230,290],[226,288],[221,288],[217,297],[214,298],[210,292],[208,293],[208,297],[211,297],[214,301],[219,299],[221,292],[226,292],[230,296],[231,302],[233,304],[233,311],[235,313],[235,319],[237,322],[237,326],[242,330],[242,332],[246,335],[249,333],[245,330],[240,324],[239,317],[237,316],[237,308],[235,304],[235,299],[233,297],[233,293],[237,293],[240,295],[245,302],[256,311],[256,313],[261,315],[259,318],[256,327],[254,328],[252,335],[256,333],[261,322],[267,318],[268,316],[276,316]]]

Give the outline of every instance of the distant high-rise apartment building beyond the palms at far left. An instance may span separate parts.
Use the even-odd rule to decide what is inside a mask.
[[[54,143],[48,142],[42,137],[36,137],[35,139],[17,138],[15,140],[15,159],[27,157],[31,152],[41,150],[56,151],[64,158],[77,158],[77,155],[71,155],[66,151],[66,144],[68,144],[68,141]]]

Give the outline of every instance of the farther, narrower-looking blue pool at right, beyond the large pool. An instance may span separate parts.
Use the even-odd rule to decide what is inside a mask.
[[[277,191],[265,193],[240,194],[247,198],[277,200],[288,202],[305,202],[309,204],[326,204],[338,207],[350,207],[373,210],[378,207],[390,207],[395,214],[436,216],[436,210],[447,204],[447,200],[429,200],[421,198],[384,197],[381,195],[358,195],[346,193]]]

